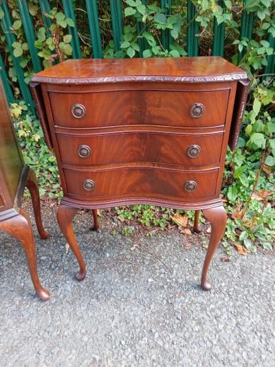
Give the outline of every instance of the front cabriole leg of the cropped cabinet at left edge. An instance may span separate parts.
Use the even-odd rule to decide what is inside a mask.
[[[36,294],[43,301],[49,300],[50,293],[41,286],[39,275],[37,273],[34,235],[28,213],[24,209],[21,209],[21,212],[17,216],[2,220],[0,222],[0,229],[3,229],[6,233],[13,235],[21,242],[25,251],[25,257],[28,262],[30,276],[32,278],[32,283],[34,284]]]

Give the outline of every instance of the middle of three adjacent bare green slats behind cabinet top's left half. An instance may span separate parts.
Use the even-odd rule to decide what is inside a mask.
[[[102,59],[103,53],[100,37],[100,26],[98,21],[98,6],[96,0],[86,0],[86,8],[89,19],[93,56],[95,59]]]

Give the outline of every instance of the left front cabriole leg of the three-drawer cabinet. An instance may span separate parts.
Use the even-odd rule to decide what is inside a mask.
[[[78,209],[76,208],[67,207],[67,205],[61,204],[59,205],[57,211],[57,221],[63,235],[65,236],[69,246],[74,252],[76,260],[78,260],[78,264],[80,266],[80,271],[76,273],[76,279],[83,280],[86,275],[85,262],[78,247],[78,243],[74,235],[74,229],[72,227],[72,220],[74,219],[74,216],[76,215],[77,211]]]

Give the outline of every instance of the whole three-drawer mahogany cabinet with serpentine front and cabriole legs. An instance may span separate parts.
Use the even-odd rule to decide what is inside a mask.
[[[225,153],[241,127],[243,70],[220,57],[68,60],[32,77],[64,196],[58,223],[85,263],[72,229],[78,208],[149,204],[199,209],[212,231],[201,286],[225,229],[219,197]],[[96,223],[97,227],[97,223]]]

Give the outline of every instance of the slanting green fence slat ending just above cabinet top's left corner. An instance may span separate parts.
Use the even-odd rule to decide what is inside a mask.
[[[32,24],[29,8],[25,0],[17,0],[17,3],[30,50],[30,56],[32,58],[32,65],[34,66],[34,72],[40,72],[42,69],[41,61],[39,59],[39,55],[37,54],[37,49],[34,46],[36,36],[34,34],[34,25]]]

